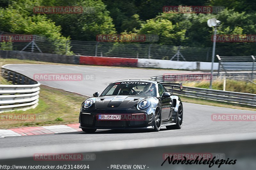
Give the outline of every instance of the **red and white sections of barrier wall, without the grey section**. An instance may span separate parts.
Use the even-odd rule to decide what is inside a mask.
[[[171,60],[156,60],[142,58],[93,57],[80,56],[80,64],[103,66],[132,66],[140,68],[211,70],[210,62],[186,62]],[[218,70],[219,63],[214,63],[213,69]]]

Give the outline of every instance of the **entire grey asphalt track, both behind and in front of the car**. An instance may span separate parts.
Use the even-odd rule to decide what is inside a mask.
[[[4,66],[6,69],[17,71],[30,78],[33,74],[38,73],[81,73],[84,75],[93,75],[92,80],[82,81],[39,81],[43,85],[81,93],[84,95],[92,96],[93,92],[102,92],[106,86],[116,80],[121,79],[147,79],[149,77],[163,75],[163,74],[180,74],[189,73],[191,71],[177,71],[177,70],[148,70],[148,69],[125,69],[125,68],[110,68],[110,67],[94,67],[94,66],[65,66],[65,65],[33,65],[33,64],[11,64]],[[199,73],[199,72],[198,72]],[[182,98],[181,98],[182,100]],[[82,101],[81,101],[82,103]],[[211,114],[217,113],[255,113],[254,111],[229,109],[224,107],[214,107],[206,105],[198,105],[192,103],[184,103],[184,124],[180,130],[163,130],[158,133],[117,133],[114,130],[98,130],[95,134],[85,133],[70,133],[58,135],[43,135],[43,136],[25,136],[6,137],[0,140],[1,148],[10,147],[10,144],[17,143],[19,146],[40,146],[50,144],[61,144],[63,135],[65,136],[66,143],[76,141],[77,136],[86,136],[84,142],[94,141],[116,141],[126,139],[145,139],[151,137],[168,137],[168,136],[194,136],[194,135],[210,135],[210,134],[229,134],[229,133],[249,133],[255,132],[256,122],[214,122],[211,120]],[[77,113],[78,115],[78,113]],[[103,138],[104,137],[104,138]],[[79,137],[80,138],[80,137]],[[44,139],[44,143],[41,143]],[[83,141],[83,138],[80,138]],[[81,141],[79,141],[81,142]],[[16,146],[12,145],[11,147]]]

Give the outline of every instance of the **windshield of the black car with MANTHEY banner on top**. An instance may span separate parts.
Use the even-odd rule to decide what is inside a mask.
[[[156,85],[147,82],[119,82],[110,84],[100,96],[152,96],[156,97]]]

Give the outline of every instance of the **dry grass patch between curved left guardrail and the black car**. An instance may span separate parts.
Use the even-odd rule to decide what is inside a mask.
[[[3,120],[2,117],[0,129],[78,123],[79,110],[86,96],[44,85],[40,88],[39,105],[36,108],[1,113],[1,116],[35,115],[35,120]]]

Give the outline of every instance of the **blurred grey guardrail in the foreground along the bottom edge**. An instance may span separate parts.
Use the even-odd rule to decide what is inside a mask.
[[[62,167],[65,167],[65,164],[68,164],[69,166],[73,165],[74,167],[74,165],[77,166],[78,163],[78,165],[88,165],[90,169],[118,169],[113,168],[113,165],[131,165],[131,168],[126,169],[146,170],[209,169],[209,163],[202,164],[202,160],[202,162],[199,164],[192,162],[192,164],[189,165],[184,163],[177,164],[177,160],[175,161],[175,159],[179,160],[183,157],[174,157],[172,162],[175,161],[176,163],[169,163],[168,160],[164,161],[166,159],[166,155],[171,157],[172,155],[185,156],[185,154],[188,154],[190,158],[187,158],[187,160],[195,160],[196,156],[199,154],[198,156],[200,158],[204,158],[204,160],[208,160],[208,158],[212,160],[213,156],[215,156],[214,162],[211,165],[212,168],[210,169],[255,169],[255,142],[256,139],[254,133],[244,133],[186,137],[177,137],[173,135],[171,137],[161,137],[158,139],[153,138],[150,140],[133,139],[94,142],[92,144],[89,143],[87,144],[87,147],[82,148],[79,147],[79,145],[74,144],[60,144],[58,146],[47,147],[28,147],[22,149],[15,148],[17,150],[17,153],[15,154],[10,152],[10,149],[1,148],[0,152],[2,154],[0,155],[0,164],[9,166],[9,169],[11,169],[13,165],[27,167],[28,165],[40,165],[46,167],[60,167],[61,165]],[[54,153],[52,153],[53,151]],[[40,156],[37,158],[36,155],[42,155],[42,158]],[[46,155],[46,157],[44,157],[44,155]],[[47,155],[51,155],[51,157],[48,158]],[[62,158],[62,160],[65,161],[64,164],[62,163],[64,161],[52,161],[54,160],[52,158],[54,155],[70,155],[71,157],[68,157],[69,159]],[[79,159],[79,157],[75,157],[76,155],[83,158],[82,161],[74,161],[73,159]],[[148,158],[148,155],[154,155],[154,161]],[[198,160],[200,160],[200,158]],[[221,159],[227,161],[227,163],[229,161],[232,163],[233,160],[236,160],[236,164],[222,164],[220,168],[218,168],[220,164],[218,164],[218,162]],[[218,162],[216,160],[218,160]],[[138,168],[138,165],[140,165],[141,168]]]

